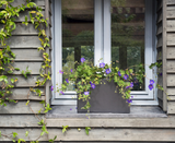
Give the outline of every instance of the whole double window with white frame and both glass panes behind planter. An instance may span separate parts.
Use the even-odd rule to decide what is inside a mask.
[[[59,85],[81,57],[125,69],[145,64],[149,79],[154,79],[149,64],[155,61],[155,8],[153,0],[55,0],[52,1],[54,85]],[[119,62],[118,62],[119,61]],[[135,69],[137,70],[137,69]],[[135,86],[132,105],[158,105],[156,92],[149,91],[149,80]],[[155,91],[155,90],[154,90]],[[52,105],[75,105],[73,83],[65,95],[52,93]]]

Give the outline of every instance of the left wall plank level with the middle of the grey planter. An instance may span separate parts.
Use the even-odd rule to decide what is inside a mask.
[[[27,99],[32,99],[32,100],[45,100],[45,91],[44,88],[39,88],[43,94],[39,97],[38,95],[36,95],[35,93],[31,92],[30,96],[27,97],[28,91],[30,88],[12,88],[12,95],[9,95],[8,97],[10,99],[15,99],[15,100],[27,100]]]

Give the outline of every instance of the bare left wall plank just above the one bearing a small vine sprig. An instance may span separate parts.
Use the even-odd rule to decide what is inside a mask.
[[[12,49],[15,61],[43,61],[43,53],[37,49]]]

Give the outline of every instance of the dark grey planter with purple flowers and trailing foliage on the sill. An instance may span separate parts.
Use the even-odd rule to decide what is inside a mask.
[[[143,64],[135,67],[138,68],[138,72],[133,72],[133,67],[121,70],[104,62],[93,65],[81,58],[81,63],[75,70],[71,69],[71,74],[57,92],[63,94],[71,81],[78,94],[78,112],[129,114],[133,82],[137,79],[142,83],[145,76]],[[60,73],[65,74],[63,71]],[[153,88],[153,84],[154,81],[150,80],[150,90]]]

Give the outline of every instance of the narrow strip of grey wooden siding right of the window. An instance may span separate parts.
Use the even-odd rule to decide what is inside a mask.
[[[167,74],[167,114],[175,114],[175,1],[167,0],[166,8],[166,74]]]

